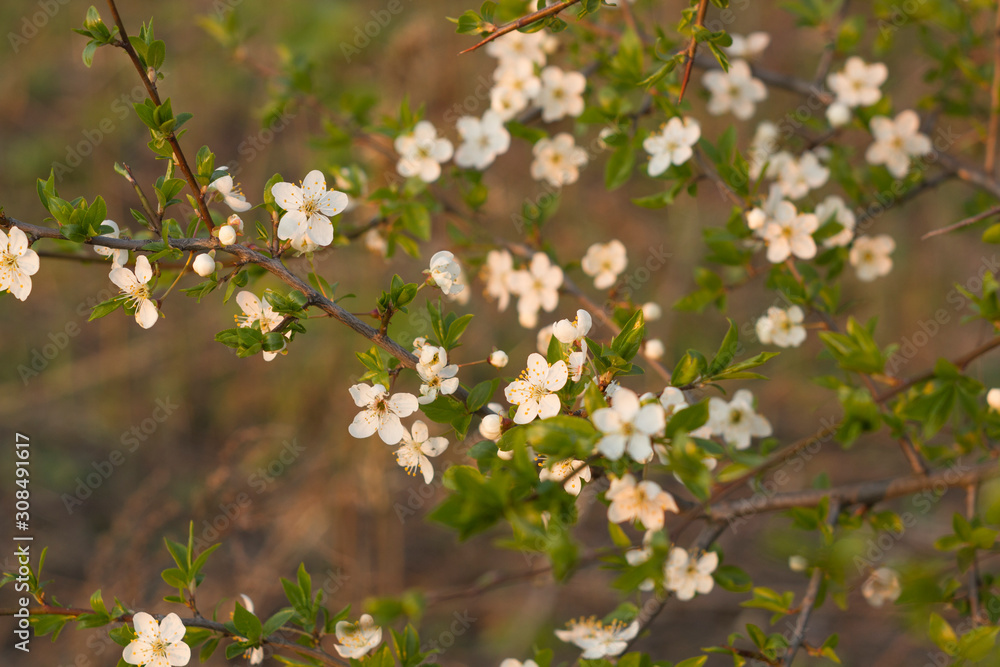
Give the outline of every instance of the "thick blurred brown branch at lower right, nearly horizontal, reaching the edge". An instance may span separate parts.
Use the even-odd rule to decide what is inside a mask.
[[[829,497],[831,501],[839,501],[842,507],[859,504],[873,505],[883,500],[921,491],[968,486],[998,476],[1000,476],[1000,467],[997,466],[996,462],[991,461],[969,467],[962,472],[949,468],[926,476],[896,477],[887,480],[845,484],[832,489],[777,493],[764,499],[742,498],[714,505],[708,509],[706,516],[712,521],[733,521],[761,512],[775,512],[793,507],[815,507],[826,497]]]

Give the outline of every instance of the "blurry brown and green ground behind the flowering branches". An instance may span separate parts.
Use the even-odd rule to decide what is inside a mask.
[[[797,28],[793,17],[767,3],[743,4],[748,6],[734,8],[726,27],[741,34],[770,32],[772,44],[761,64],[811,77],[822,36]],[[363,40],[356,41],[358,29],[373,20],[372,12],[377,18],[386,5],[382,0],[289,0],[280,5],[253,0],[125,0],[120,9],[133,34],[141,21],[155,17],[156,35],[167,44],[161,94],[171,98],[175,111],[194,114],[181,140],[187,155],[192,157],[207,144],[216,152],[217,163],[237,163],[244,193],[258,203],[263,184],[275,172],[297,181],[318,168],[329,179],[335,158],[316,139],[323,134],[324,118],[318,105],[336,106],[344,91],[377,95],[381,101],[375,118],[395,113],[408,95],[414,106],[426,105],[426,117],[456,145],[457,132],[442,119],[453,119],[455,105],[469,96],[475,109],[467,105],[469,111],[479,115],[485,109],[483,91],[490,85],[495,61],[484,52],[458,57],[472,38],[456,35],[444,18],[458,16],[472,5],[404,1],[402,11],[392,14],[362,47]],[[669,26],[685,5],[640,2],[635,11],[648,25]],[[3,32],[25,38],[8,36],[0,45],[0,205],[12,217],[41,223],[46,213],[35,194],[35,182],[58,163],[66,167],[58,182],[63,197],[90,200],[101,194],[109,216],[136,230],[129,214],[130,208],[138,208],[135,194],[112,167],[116,161],[128,163],[147,192],[161,167],[145,147],[146,130],[131,113],[131,103],[142,99],[142,91],[124,54],[100,49],[91,69],[81,62],[86,40],[71,29],[81,25],[88,6],[82,0],[0,5]],[[98,9],[107,14],[104,5]],[[229,12],[235,12],[245,34],[235,58],[197,18]],[[611,26],[622,22],[613,9],[602,11],[598,20]],[[865,27],[860,53],[870,60],[868,45],[878,33],[878,22],[869,16]],[[588,52],[578,53],[571,44],[590,36],[587,31],[563,33],[560,50],[550,62],[582,68]],[[358,52],[345,45],[357,47]],[[985,50],[966,55],[979,63],[989,57]],[[891,55],[878,57],[889,65],[891,74],[883,90],[897,110],[915,105],[927,94],[916,40],[900,39]],[[287,122],[277,131],[265,130],[262,122],[271,118],[284,85],[280,76],[266,74],[287,71],[283,67],[289,62],[307,65],[316,103],[293,102]],[[705,113],[699,79],[696,71],[692,114],[702,122],[703,136],[714,137],[732,119]],[[792,93],[771,89],[755,119],[737,123],[739,145],[748,144],[756,122],[780,119],[800,101]],[[654,126],[661,120],[647,122]],[[572,127],[571,121],[563,121],[547,129]],[[979,161],[978,149],[970,148],[978,144],[978,135],[962,125],[954,126],[954,131],[960,138],[952,153],[965,151]],[[855,131],[845,141],[856,143],[860,160],[868,138]],[[355,147],[355,156],[371,165],[373,186],[384,180],[380,174],[394,168],[391,160],[364,145]],[[598,156],[583,170],[580,182],[566,188],[558,213],[546,227],[547,239],[563,262],[579,260],[591,243],[620,239],[630,259],[626,277],[642,266],[651,269],[635,299],[664,306],[664,317],[649,328],[666,344],[665,363],[672,365],[689,347],[714,351],[726,330],[725,317],[712,309],[699,315],[673,312],[669,306],[694,289],[693,269],[703,252],[700,230],[724,224],[729,204],[705,183],[696,198],[681,197],[677,206],[638,208],[630,198],[661,188],[640,173],[621,190],[608,193],[602,181],[605,160]],[[511,151],[484,177],[491,188],[485,210],[495,224],[490,231],[497,236],[518,240],[510,215],[520,210],[526,197],[543,192],[528,174],[529,162],[530,146],[515,139]],[[936,167],[928,173],[936,173]],[[853,275],[843,279],[852,312],[863,320],[879,318],[881,344],[912,343],[924,332],[927,342],[919,344],[923,339],[918,336],[912,358],[899,364],[901,376],[922,371],[936,357],[955,356],[989,336],[979,325],[959,326],[968,312],[953,290],[956,283],[978,289],[982,272],[996,270],[1000,261],[993,248],[981,245],[975,233],[919,239],[930,229],[964,217],[963,202],[971,194],[961,183],[946,183],[916,203],[880,217],[872,231],[895,238],[893,272],[875,283],[861,283]],[[361,206],[341,216],[338,224],[360,226],[370,216],[371,211]],[[444,220],[435,218],[434,240],[423,247],[425,258],[446,247]],[[558,659],[575,659],[575,650],[556,640],[552,629],[571,617],[601,616],[620,601],[608,585],[612,575],[595,566],[581,570],[565,585],[542,575],[486,594],[461,593],[474,593],[470,587],[484,581],[481,577],[488,581],[489,576],[525,572],[544,565],[544,559],[497,548],[494,541],[505,536],[502,530],[458,545],[452,534],[423,521],[442,497],[438,479],[426,487],[404,474],[391,448],[377,438],[356,440],[348,435],[356,409],[347,389],[363,372],[354,354],[368,345],[346,328],[333,321],[311,322],[308,335],[300,336],[289,354],[265,363],[259,357],[238,359],[213,341],[216,332],[232,326],[239,312],[234,301],[222,303],[221,292],[200,304],[174,292],[163,306],[164,317],[148,331],[121,312],[88,323],[89,308],[114,294],[107,264],[46,258],[44,251],[57,248],[45,242],[35,248],[43,252],[42,265],[27,302],[0,298],[4,323],[0,424],[2,438],[10,445],[15,431],[31,436],[32,548],[49,546],[46,575],[55,580],[49,590],[60,603],[86,606],[89,595],[101,588],[105,600],[118,597],[132,609],[183,611],[162,601],[171,591],[159,572],[170,565],[163,537],[183,541],[189,522],[194,522],[202,544],[222,542],[199,589],[203,613],[210,614],[218,602],[220,618],[227,617],[240,593],[253,598],[259,613],[273,613],[285,604],[278,577],[294,578],[298,564],[304,562],[314,585],[327,591],[330,609],[350,603],[355,617],[370,596],[398,595],[410,588],[427,591],[431,603],[420,620],[421,637],[444,650],[439,661],[445,666],[526,659],[532,646],[552,647]],[[658,262],[653,258],[663,252],[669,258],[654,268]],[[301,262],[292,266],[301,275],[308,270]],[[342,305],[367,312],[393,273],[418,281],[424,267],[424,260],[401,255],[385,260],[359,243],[328,251],[318,270],[330,283],[340,282],[339,294],[356,295]],[[568,275],[591,298],[603,298],[579,268]],[[196,282],[184,280],[182,286]],[[259,294],[265,287],[279,285],[268,278],[253,289]],[[459,310],[477,317],[455,360],[483,359],[496,346],[508,351],[509,371],[515,374],[534,351],[535,332],[517,325],[512,308],[498,313],[482,297],[480,284],[472,286],[472,293],[468,306]],[[421,294],[418,303],[423,299]],[[758,280],[734,292],[729,302],[730,317],[746,333],[768,306],[775,305],[775,296]],[[540,324],[572,317],[576,308],[565,297],[557,312],[542,314]],[[932,334],[927,323],[940,310],[945,311],[946,322]],[[408,344],[426,333],[418,321],[402,320],[391,333]],[[752,334],[746,340],[752,353],[759,351]],[[989,359],[976,366],[987,385],[998,379],[994,367]],[[764,372],[773,381],[748,385],[782,442],[812,433],[822,420],[839,415],[835,397],[808,380],[831,368],[829,360],[820,356],[819,341],[810,335],[800,349],[768,364]],[[480,365],[463,371],[463,384],[472,386],[493,377],[491,370]],[[417,384],[413,377],[402,378],[404,389],[416,392]],[[663,382],[647,374],[631,386],[659,391]],[[432,434],[442,430],[431,428]],[[467,461],[464,451],[475,441],[453,441],[435,460],[439,473],[442,466]],[[0,457],[4,490],[0,497],[7,516],[13,512],[7,509],[13,505],[8,481],[13,479],[13,448],[3,449],[7,454]],[[880,434],[862,438],[848,454],[835,444],[824,445],[803,474],[781,490],[807,487],[821,472],[836,484],[906,470],[898,446]],[[664,484],[687,497],[673,480]],[[577,536],[585,546],[607,541],[604,510],[593,495],[585,493],[581,500]],[[913,511],[910,500],[894,507]],[[880,564],[901,561],[904,552],[933,563],[939,557],[933,540],[946,530],[950,513],[959,507],[961,499],[949,496],[930,513],[921,514],[918,526],[896,540],[895,550],[880,557]],[[9,529],[3,530],[6,534]],[[721,544],[727,553],[739,554],[737,562],[757,584],[801,595],[806,575],[791,572],[787,559],[808,551],[814,539],[796,532],[787,518],[768,516],[727,532]],[[11,566],[10,552],[0,555],[0,560],[8,559],[5,569]],[[860,585],[861,578],[856,583]],[[11,606],[12,598],[10,587],[0,590],[0,606]],[[742,631],[745,623],[767,627],[768,615],[742,610],[741,599],[716,589],[690,603],[669,604],[637,647],[658,659],[680,660],[702,647],[724,643],[728,633]],[[934,652],[919,638],[926,616],[921,619],[899,608],[871,609],[857,590],[848,600],[849,612],[827,603],[815,614],[808,634],[811,642],[841,632],[839,652],[849,665],[892,667],[930,660]],[[0,619],[0,627],[8,627],[8,621]],[[774,631],[787,628],[778,626]],[[6,630],[4,634],[10,636]],[[70,629],[54,644],[37,638],[30,656],[14,651],[11,643],[5,640],[0,646],[3,664],[88,667],[114,665],[120,655],[100,629]],[[332,651],[332,639],[326,648]],[[221,651],[210,660],[210,664],[224,662]],[[715,656],[708,664],[729,661]]]

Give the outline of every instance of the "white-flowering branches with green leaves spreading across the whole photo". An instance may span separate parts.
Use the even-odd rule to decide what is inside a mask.
[[[89,261],[80,251],[89,246],[110,260],[108,280],[118,291],[92,308],[91,320],[122,310],[142,329],[178,327],[161,316],[186,294],[235,317],[218,343],[273,364],[326,326],[352,330],[358,374],[328,382],[331,396],[357,408],[338,433],[359,447],[391,446],[385,456],[394,455],[412,484],[439,484],[428,520],[460,540],[502,533],[503,548],[544,561],[501,584],[542,574],[569,581],[598,562],[613,575],[617,606],[550,619],[554,631],[532,650],[489,664],[790,667],[839,663],[840,652],[876,664],[849,637],[810,627],[817,609],[866,603],[917,610],[922,641],[944,656],[933,664],[1000,659],[1000,589],[990,560],[1000,550],[991,484],[1000,476],[1000,390],[987,392],[974,374],[974,362],[1000,346],[995,276],[983,271],[976,289],[957,288],[967,326],[984,323],[988,336],[968,349],[935,350],[936,363],[910,374],[897,373],[898,351],[881,337],[881,323],[842,293],[844,285],[878,290],[905,261],[894,257],[897,244],[916,243],[918,232],[908,228],[904,241],[880,228],[904,202],[933,197],[946,181],[967,186],[967,217],[920,230],[929,243],[1000,213],[995,3],[919,3],[912,11],[847,0],[785,3],[799,30],[822,38],[821,48],[799,58],[810,70],[801,78],[768,67],[772,35],[736,34],[745,2],[695,0],[669,21],[641,1],[485,2],[452,19],[469,53],[448,55],[493,68],[481,113],[447,121],[414,111],[386,87],[383,107],[398,111],[381,121],[365,104],[326,109],[336,128],[327,131],[374,151],[329,169],[296,165],[301,182],[275,174],[245,190],[234,180],[238,165],[217,164],[211,146],[188,145],[182,128],[197,121],[166,96],[174,85],[164,81],[169,45],[156,39],[152,20],[132,25],[118,4],[87,12],[77,30],[87,39],[83,59],[89,66],[120,52],[122,66],[135,70],[145,99],[133,105],[134,122],[148,128],[149,158],[163,175],[144,184],[114,165],[135,195],[123,205],[137,207],[127,224],[108,218],[105,198],[61,193],[54,172],[39,178],[47,219],[23,221],[25,214],[0,209],[0,290],[31,298],[48,261],[36,248]],[[239,50],[228,16],[208,21],[209,30]],[[870,39],[868,24],[876,26]],[[948,26],[946,44],[934,41],[935,25]],[[926,97],[905,108],[890,95],[903,91],[876,59],[891,54],[892,35],[910,28],[927,41],[934,65]],[[772,103],[772,91],[782,93],[782,105]],[[296,96],[309,98],[308,87]],[[717,131],[712,116],[726,129]],[[967,126],[975,141],[932,141],[945,119]],[[394,170],[380,173],[373,155]],[[529,192],[523,206],[503,203],[501,188],[487,180],[501,160],[520,160],[544,199]],[[588,240],[585,253],[569,256],[556,204],[574,196],[587,170],[601,168],[620,218],[601,225],[604,236]],[[652,193],[620,196],[626,184]],[[683,298],[661,305],[626,288],[635,248],[618,237],[631,209],[670,215],[683,200],[720,196],[727,219],[692,221],[702,245],[686,252],[703,261]],[[498,210],[513,216],[515,233],[487,224]],[[432,234],[442,220],[450,233]],[[1000,224],[982,240],[1000,242]],[[380,255],[428,259],[423,273],[385,276],[381,294],[359,313],[341,305],[347,297],[329,282],[350,289],[350,277],[317,268],[317,259],[362,241]],[[732,302],[754,293],[776,300],[747,327],[727,323]],[[227,305],[233,297],[242,313]],[[466,335],[473,300],[504,313],[514,302],[508,329],[531,351],[499,349],[499,332]],[[706,314],[698,347],[675,358],[651,333],[668,305]],[[395,335],[416,311],[424,315],[412,319],[419,328]],[[313,321],[321,318],[336,324]],[[780,406],[755,392],[776,348],[834,397],[836,419],[791,433],[769,417]],[[786,401],[794,404],[798,393]],[[873,479],[852,457],[879,435],[894,443],[883,454],[898,470]],[[821,447],[836,449],[849,473],[831,480],[803,472],[804,457]],[[965,496],[947,525],[920,523],[892,504],[928,492],[937,502],[950,490]],[[584,547],[578,530],[595,507],[606,535]],[[788,569],[800,580],[787,586],[748,572],[738,542],[723,546],[727,532],[779,511],[797,531]],[[936,531],[933,564],[904,550],[888,562],[866,552],[869,536],[913,525]],[[413,597],[373,598],[362,613],[331,606],[336,601],[301,566],[294,581],[272,582],[287,605],[258,615],[232,591],[232,613],[220,614],[198,595],[220,545],[203,548],[192,529],[186,541],[166,537],[166,546],[173,564],[162,573],[164,600],[176,608],[166,614],[117,598],[109,608],[99,590],[89,607],[62,604],[59,582],[42,578],[45,552],[0,583],[30,596],[25,623],[35,635],[106,627],[124,664],[185,665],[195,652],[202,661],[224,654],[250,664],[268,656],[293,665],[449,664],[421,641]],[[768,612],[769,625],[705,628],[703,650],[661,654],[652,641],[669,637],[657,626],[661,611],[719,594]]]

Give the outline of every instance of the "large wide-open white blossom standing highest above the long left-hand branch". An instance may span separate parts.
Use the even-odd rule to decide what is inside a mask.
[[[306,174],[301,186],[275,183],[271,186],[274,200],[284,212],[278,223],[278,238],[301,241],[303,237],[319,246],[333,242],[335,215],[347,208],[347,195],[326,189],[323,172],[313,169]]]

